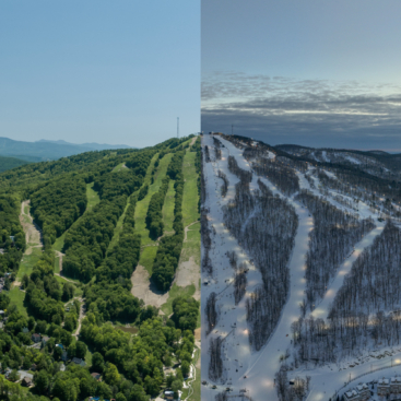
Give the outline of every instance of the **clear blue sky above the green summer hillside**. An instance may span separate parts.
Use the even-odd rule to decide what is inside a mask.
[[[2,1],[0,137],[146,146],[200,129],[200,1]]]

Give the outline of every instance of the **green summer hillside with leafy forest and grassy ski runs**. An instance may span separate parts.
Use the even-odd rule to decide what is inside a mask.
[[[10,391],[144,401],[170,388],[200,400],[199,173],[192,135],[0,174]]]

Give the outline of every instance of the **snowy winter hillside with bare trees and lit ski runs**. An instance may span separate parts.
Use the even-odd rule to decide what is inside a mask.
[[[234,400],[338,400],[399,374],[401,184],[379,165],[388,156],[202,135],[204,400],[227,387]]]

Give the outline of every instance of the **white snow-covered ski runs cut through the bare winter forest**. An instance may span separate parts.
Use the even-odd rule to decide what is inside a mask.
[[[224,227],[222,210],[222,208],[227,204],[229,200],[234,199],[235,185],[239,181],[237,176],[228,170],[228,155],[236,158],[240,168],[245,170],[252,170],[252,168],[248,161],[244,158],[243,150],[237,149],[233,143],[219,135],[216,138],[219,138],[219,140],[224,144],[224,146],[221,148],[221,160],[215,160],[213,137],[203,135],[202,138],[202,146],[209,148],[211,156],[210,163],[205,163],[205,161],[203,163],[207,198],[202,207],[209,211],[208,221],[212,231],[212,249],[210,250],[210,258],[213,266],[212,275],[208,275],[207,273],[202,272],[202,283],[209,282],[209,284],[202,285],[201,292],[201,377],[202,381],[208,381],[208,385],[202,385],[202,400],[213,400],[217,392],[224,391],[227,387],[233,390],[229,392],[231,396],[239,394],[240,390],[246,390],[246,394],[251,397],[253,401],[278,400],[278,394],[274,387],[274,375],[280,369],[280,359],[285,355],[287,350],[292,351],[291,325],[299,318],[299,303],[305,297],[305,255],[308,251],[308,235],[314,227],[314,221],[309,215],[308,210],[295,202],[292,199],[293,197],[286,198],[274,185],[272,185],[272,182],[263,177],[256,176],[253,173],[252,181],[249,186],[251,191],[258,189],[257,180],[260,178],[274,194],[286,198],[295,208],[296,214],[298,215],[298,228],[295,236],[295,245],[288,263],[291,273],[291,290],[286,299],[286,304],[282,310],[281,318],[275,327],[275,330],[271,334],[269,341],[263,347],[261,347],[261,350],[256,352],[249,345],[248,326],[246,320],[246,300],[249,298],[255,287],[261,284],[262,279],[260,272],[251,264],[251,257],[244,251],[240,244],[238,244],[231,233]],[[223,172],[229,181],[228,191],[225,198],[222,198],[221,194],[221,186],[223,181],[217,177],[219,170]],[[314,192],[314,194],[320,196],[319,190],[316,189],[318,182],[316,182],[315,178],[314,180],[316,188],[311,189],[304,175],[300,173],[297,173],[297,175],[299,178],[300,188],[308,189]],[[335,196],[337,193],[332,194]],[[331,199],[330,196],[327,197],[327,199],[337,208],[350,211],[346,207]],[[373,217],[377,217],[373,215],[371,211],[366,204],[359,202],[358,208],[358,215],[361,219],[366,219],[370,215]],[[375,219],[375,224],[377,227],[366,235],[363,240],[355,245],[354,252],[346,260],[344,260],[344,263],[338,269],[335,278],[328,285],[325,298],[319,305],[317,305],[317,308],[312,312],[315,317],[327,317],[330,304],[338,290],[342,286],[344,275],[350,271],[353,261],[363,251],[363,249],[371,245],[374,238],[381,233],[384,223],[377,223]],[[248,282],[246,295],[238,305],[235,305],[234,302],[234,274],[226,255],[227,251],[233,250],[235,250],[238,255],[238,263],[245,262],[249,268],[249,272],[247,273]],[[207,335],[205,328],[208,326],[208,321],[204,314],[204,308],[207,299],[212,292],[217,294],[216,309],[219,310],[220,317],[212,332]],[[222,343],[223,374],[220,379],[213,382],[209,379],[209,344],[210,339],[217,337],[224,339]],[[361,368],[362,365],[358,367],[358,370]],[[368,366],[366,366],[366,369],[367,368]],[[296,374],[302,376],[302,373],[299,371]],[[305,371],[304,375],[309,375],[312,377],[310,386],[312,391],[310,392],[308,400],[325,400],[328,390],[326,380],[330,380],[330,388],[332,387],[334,391],[337,388],[340,388],[342,385],[344,385],[345,374],[349,375],[349,371],[344,370],[344,373],[334,373],[332,367]],[[323,382],[326,382],[326,385],[323,385]],[[216,386],[216,389],[212,388],[213,385]]]

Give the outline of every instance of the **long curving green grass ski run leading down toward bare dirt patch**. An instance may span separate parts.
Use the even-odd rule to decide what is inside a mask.
[[[151,201],[153,193],[158,191],[158,188],[162,185],[162,180],[166,176],[167,166],[172,157],[173,153],[168,153],[160,161],[156,173],[154,174],[154,182],[150,185],[148,194],[135,205],[135,231],[142,237],[142,245],[154,244],[154,241],[149,237],[149,229],[146,228],[145,217],[148,213],[149,202]],[[153,169],[154,161],[156,158],[157,155],[153,157],[152,164],[148,168],[145,182],[151,182],[151,172]]]

